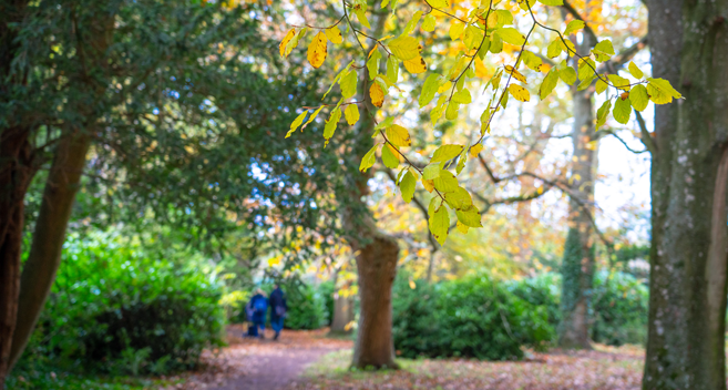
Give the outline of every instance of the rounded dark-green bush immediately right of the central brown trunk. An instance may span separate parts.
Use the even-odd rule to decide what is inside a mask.
[[[520,359],[522,346],[553,338],[544,307],[510,292],[485,276],[409,287],[400,275],[393,289],[393,333],[398,353],[414,358]]]

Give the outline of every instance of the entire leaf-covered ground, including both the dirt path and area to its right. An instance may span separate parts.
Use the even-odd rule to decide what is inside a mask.
[[[348,369],[352,341],[327,338],[326,329],[284,331],[279,341],[243,339],[242,332],[229,328],[229,347],[166,389],[639,389],[644,358],[642,348],[596,345],[592,351],[527,351],[523,361],[398,359],[401,370],[367,372]]]

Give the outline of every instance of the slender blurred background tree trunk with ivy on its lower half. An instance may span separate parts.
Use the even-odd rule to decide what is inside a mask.
[[[591,48],[592,42],[588,35],[584,34],[577,50],[585,54]],[[596,132],[592,89],[574,89],[573,95],[574,154],[570,179],[572,193],[568,203],[568,234],[562,263],[562,322],[558,327],[558,345],[562,348],[588,349],[589,306],[594,285],[592,213],[596,174],[596,142],[593,141],[596,140]]]

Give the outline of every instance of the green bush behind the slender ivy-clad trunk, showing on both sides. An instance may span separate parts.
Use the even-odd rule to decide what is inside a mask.
[[[647,287],[629,274],[606,270],[596,273],[591,308],[592,339],[611,346],[645,343],[647,340]],[[548,312],[550,324],[556,328],[561,320],[561,276],[541,274],[510,284],[509,289],[532,305]]]

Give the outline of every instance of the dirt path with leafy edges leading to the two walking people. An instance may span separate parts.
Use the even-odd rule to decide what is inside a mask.
[[[327,338],[327,329],[284,330],[278,341],[271,340],[270,330],[265,340],[242,338],[243,326],[230,326],[227,331],[229,347],[208,356],[207,369],[191,376],[176,389],[281,389],[295,383],[306,367],[324,355],[352,346],[349,340]]]

